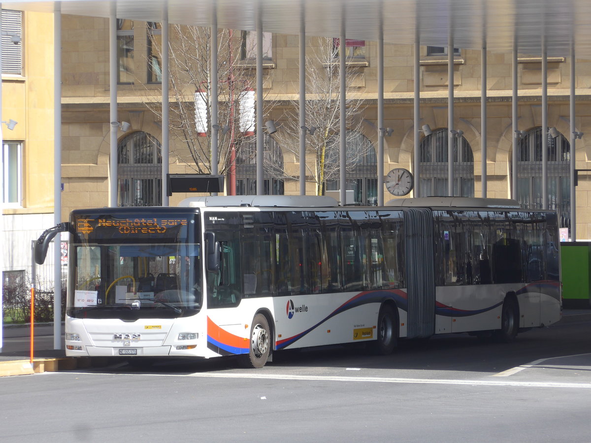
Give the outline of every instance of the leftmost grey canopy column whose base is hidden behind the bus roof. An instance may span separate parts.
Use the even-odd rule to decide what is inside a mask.
[[[109,206],[117,206],[117,16],[116,3],[111,3],[111,15],[109,15],[109,121],[111,122],[109,155],[109,175],[111,186],[109,192]]]

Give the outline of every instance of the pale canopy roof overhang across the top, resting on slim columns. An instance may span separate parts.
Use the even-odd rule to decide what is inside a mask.
[[[590,0],[61,0],[2,2],[5,9],[161,21],[164,10],[170,23],[208,26],[217,9],[220,28],[254,30],[261,11],[264,31],[298,34],[300,17],[306,34],[339,37],[344,21],[346,37],[378,40],[383,23],[387,43],[412,44],[415,30],[423,45],[447,46],[453,30],[454,47],[541,56],[541,41],[548,56],[569,55],[574,38],[577,58],[591,59]]]

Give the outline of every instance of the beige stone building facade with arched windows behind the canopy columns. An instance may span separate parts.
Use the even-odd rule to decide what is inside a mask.
[[[64,182],[63,219],[67,219],[70,210],[83,207],[100,207],[109,204],[109,23],[108,19],[64,15],[62,18],[63,38],[63,165]],[[128,131],[119,131],[120,145],[133,143],[134,134],[138,138],[147,138],[154,142],[156,149],[162,141],[161,122],[158,115],[152,113],[145,103],[147,100],[158,101],[161,84],[154,80],[154,60],[151,59],[151,43],[148,35],[154,25],[145,22],[133,22],[132,26],[121,22],[119,35],[121,41],[128,38],[133,42],[134,57],[126,60],[133,64],[132,82],[118,85],[118,118],[130,123]],[[132,38],[130,38],[132,37]],[[290,100],[297,100],[298,95],[298,54],[299,37],[297,35],[273,34],[270,36],[269,56],[265,59],[265,100],[275,103],[268,118],[281,125],[283,110],[288,108]],[[310,47],[317,45],[317,38],[308,37]],[[445,48],[422,46],[420,54],[420,115],[421,125],[429,125],[431,135],[421,135],[421,193],[438,194],[447,190],[444,167],[447,158],[447,55]],[[357,139],[371,144],[377,149],[379,131],[377,128],[376,97],[378,92],[378,47],[375,42],[353,42],[348,47],[349,67],[355,70],[356,77],[350,85],[348,95],[363,103],[363,111]],[[384,170],[403,167],[413,171],[414,158],[414,122],[413,122],[413,63],[414,47],[411,45],[385,44],[384,47],[384,126],[391,128],[391,135],[385,137]],[[570,115],[569,85],[570,63],[572,60],[554,57],[548,60],[548,126],[558,131],[558,136],[550,141],[550,205],[561,213],[561,223],[569,226],[570,196],[568,188],[570,172],[567,167],[570,159]],[[121,57],[125,57],[122,53]],[[458,195],[482,196],[482,162],[486,161],[488,197],[517,198],[522,203],[535,207],[541,203],[540,183],[541,165],[538,161],[541,149],[541,58],[523,54],[518,63],[518,126],[524,131],[522,148],[519,153],[519,195],[511,196],[511,158],[514,133],[511,118],[511,54],[488,53],[486,79],[487,102],[487,155],[482,158],[480,139],[480,51],[459,48],[454,55],[454,128],[463,131],[458,144],[456,171]],[[313,61],[310,61],[313,63]],[[171,68],[172,69],[172,68]],[[317,69],[327,69],[319,64]],[[591,136],[591,62],[576,61],[576,130]],[[129,79],[127,79],[129,80]],[[265,117],[266,119],[267,117]],[[127,129],[127,128],[125,128]],[[281,130],[281,129],[280,129]],[[275,139],[274,139],[275,140]],[[280,185],[269,184],[269,192],[298,194],[297,174],[299,160],[293,154],[293,146],[298,140],[273,142],[274,149],[280,149],[285,177]],[[179,152],[182,146],[170,146],[171,152]],[[589,158],[590,144],[585,137],[576,143],[576,168],[591,168]],[[152,172],[158,171],[152,155]],[[166,159],[163,159],[165,161]],[[307,158],[313,167],[313,159]],[[376,157],[367,155],[358,172],[348,182],[356,193],[356,201],[365,204],[376,202],[375,177]],[[180,160],[178,155],[168,159],[171,173],[194,172],[190,164]],[[125,171],[126,165],[120,168]],[[444,171],[444,172],[442,172]],[[150,172],[150,174],[152,174]],[[131,176],[130,176],[131,177]],[[227,182],[227,180],[226,180]],[[120,183],[123,183],[120,181]],[[131,183],[131,182],[130,182]],[[128,193],[134,200],[152,193],[158,184],[135,181],[126,190],[119,187],[119,192]],[[139,183],[139,184],[138,184]],[[241,187],[248,192],[248,183]],[[148,188],[152,186],[152,190]],[[239,187],[240,188],[240,187]],[[307,193],[314,193],[314,183],[307,182]],[[327,189],[330,189],[327,185]],[[149,192],[148,192],[149,191]],[[591,238],[591,219],[589,198],[591,182],[586,174],[580,174],[576,191],[577,204],[577,239]],[[388,193],[385,191],[385,200]],[[125,197],[125,198],[128,198]],[[177,204],[184,194],[174,194],[170,204]],[[120,196],[120,198],[123,198]],[[131,201],[130,200],[130,201]],[[144,198],[144,200],[146,200]],[[142,201],[144,201],[142,200]]]

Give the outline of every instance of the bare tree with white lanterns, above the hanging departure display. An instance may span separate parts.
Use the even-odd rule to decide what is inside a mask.
[[[212,171],[211,29],[186,25],[170,28],[170,152],[200,174]],[[228,174],[243,141],[254,133],[255,70],[245,54],[242,31],[218,31],[218,171]],[[158,47],[160,49],[160,47]],[[249,100],[250,99],[250,100]],[[249,106],[245,103],[250,101]],[[161,116],[159,102],[147,106]],[[252,104],[252,106],[250,106]],[[267,103],[265,103],[267,106]],[[272,104],[268,105],[272,106]],[[216,129],[214,129],[216,130]],[[174,143],[172,141],[175,141]]]

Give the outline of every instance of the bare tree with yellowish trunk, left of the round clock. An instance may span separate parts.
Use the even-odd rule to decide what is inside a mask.
[[[318,38],[319,44],[311,47],[306,54],[306,126],[314,128],[314,133],[306,136],[307,155],[314,156],[314,163],[306,163],[306,170],[316,183],[317,195],[324,193],[326,181],[339,177],[340,152],[340,82],[339,82],[339,47],[333,38]],[[367,144],[350,143],[361,129],[362,101],[350,94],[351,84],[358,71],[348,67],[345,75],[347,96],[346,125],[347,143],[346,169],[352,171],[359,159],[367,154]],[[286,118],[278,135],[281,145],[299,158],[300,136],[298,113],[300,103],[291,102],[290,110],[285,111]],[[279,133],[278,133],[279,134]],[[306,161],[300,159],[300,161]]]

